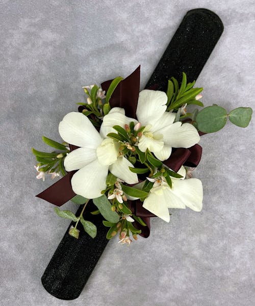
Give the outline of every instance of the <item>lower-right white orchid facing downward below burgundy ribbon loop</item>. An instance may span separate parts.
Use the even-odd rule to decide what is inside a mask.
[[[155,179],[154,186],[143,202],[143,207],[166,222],[170,221],[169,208],[186,208],[200,212],[202,209],[203,189],[198,179],[185,180],[186,170],[182,166],[177,172],[182,179],[171,177],[172,188],[163,176]]]

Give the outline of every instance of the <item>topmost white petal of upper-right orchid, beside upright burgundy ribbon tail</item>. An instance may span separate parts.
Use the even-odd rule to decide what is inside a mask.
[[[142,125],[154,124],[166,111],[167,95],[163,91],[142,90],[139,93],[136,115]]]

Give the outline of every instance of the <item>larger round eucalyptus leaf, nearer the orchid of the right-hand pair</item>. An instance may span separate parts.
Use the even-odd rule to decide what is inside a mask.
[[[208,106],[196,116],[197,128],[203,133],[214,133],[226,124],[226,110],[220,106]]]

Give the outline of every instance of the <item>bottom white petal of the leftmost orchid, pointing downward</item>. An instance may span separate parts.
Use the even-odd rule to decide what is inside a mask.
[[[108,167],[101,165],[96,159],[73,174],[72,190],[87,199],[97,198],[106,189],[107,175]]]

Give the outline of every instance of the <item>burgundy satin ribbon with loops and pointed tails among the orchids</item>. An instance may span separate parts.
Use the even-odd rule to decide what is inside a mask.
[[[106,81],[101,84],[103,90],[108,90],[112,80]],[[157,89],[157,86],[150,88]],[[136,109],[138,103],[138,96],[140,90],[140,66],[127,77],[122,80],[116,87],[111,97],[111,108],[120,107],[125,110],[125,115],[131,118],[136,118]],[[83,108],[79,108],[82,112]],[[204,133],[199,133],[203,135]],[[77,146],[70,145],[70,150],[77,149]],[[164,161],[164,164],[177,172],[182,165],[196,167],[201,159],[202,147],[199,144],[195,144],[190,148],[173,148],[171,156]],[[62,179],[55,184],[39,193],[37,197],[44,199],[56,206],[62,206],[69,201],[76,194],[72,190],[71,178],[76,171],[68,172]],[[141,225],[138,222],[134,222],[134,225],[142,231],[140,234],[142,237],[148,237],[150,232],[149,218],[155,217],[142,207],[140,200],[129,201],[129,207],[131,211],[138,217],[141,217],[146,223],[146,226]]]

